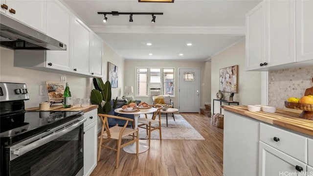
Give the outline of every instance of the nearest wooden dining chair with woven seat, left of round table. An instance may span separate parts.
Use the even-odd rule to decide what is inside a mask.
[[[100,160],[101,155],[101,147],[105,147],[107,149],[111,149],[113,151],[116,151],[116,162],[115,162],[115,168],[118,168],[118,162],[119,162],[119,154],[121,148],[136,143],[136,155],[138,156],[138,150],[139,150],[139,130],[134,129],[134,119],[126,118],[126,117],[120,117],[115,115],[109,115],[109,114],[98,114],[100,116],[100,119],[102,120],[102,131],[100,135],[100,143],[99,143],[99,149],[98,149],[98,161]],[[121,119],[125,120],[126,123],[124,126],[120,127],[118,124],[115,126],[109,128],[108,118],[115,118],[115,119]],[[133,129],[126,128],[128,125],[128,122],[133,122]],[[133,139],[131,141],[128,141],[126,143],[121,144],[122,138],[125,136],[131,135],[133,136]],[[112,148],[110,146],[107,146],[104,144],[107,140],[117,140],[116,141],[116,148]]]

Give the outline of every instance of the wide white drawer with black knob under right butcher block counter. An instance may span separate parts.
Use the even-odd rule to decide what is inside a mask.
[[[260,123],[260,140],[304,163],[308,163],[308,140],[304,136]]]

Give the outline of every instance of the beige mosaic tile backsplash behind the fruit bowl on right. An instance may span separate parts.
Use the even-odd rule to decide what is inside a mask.
[[[268,71],[268,105],[287,109],[289,97],[301,97],[313,87],[313,66]]]

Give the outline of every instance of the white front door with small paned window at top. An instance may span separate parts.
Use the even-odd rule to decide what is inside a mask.
[[[200,110],[200,68],[179,68],[179,112]]]

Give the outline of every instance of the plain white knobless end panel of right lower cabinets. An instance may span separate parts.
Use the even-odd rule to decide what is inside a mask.
[[[258,175],[259,129],[259,121],[224,111],[224,176]]]

